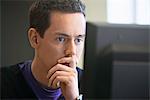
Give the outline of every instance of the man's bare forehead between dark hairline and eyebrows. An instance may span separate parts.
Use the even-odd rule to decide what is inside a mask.
[[[46,33],[51,33],[53,35],[63,35],[67,37],[70,37],[71,35],[85,36],[86,22],[82,13],[70,14],[56,11],[53,12],[50,19],[50,26]]]

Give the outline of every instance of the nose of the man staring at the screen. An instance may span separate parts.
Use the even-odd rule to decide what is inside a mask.
[[[69,57],[76,55],[76,45],[74,41],[69,42],[66,46],[65,55]]]

